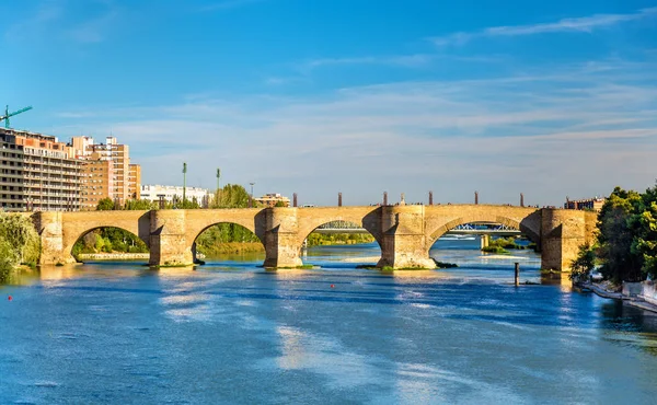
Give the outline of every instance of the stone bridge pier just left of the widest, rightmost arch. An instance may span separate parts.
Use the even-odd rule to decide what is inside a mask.
[[[381,207],[381,259],[377,267],[436,268],[425,248],[424,206]]]

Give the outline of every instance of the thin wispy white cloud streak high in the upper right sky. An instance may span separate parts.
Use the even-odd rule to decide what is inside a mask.
[[[438,46],[462,45],[477,37],[522,36],[546,33],[584,32],[613,26],[620,23],[643,20],[657,15],[657,8],[642,9],[630,14],[595,14],[590,16],[563,19],[553,23],[532,25],[494,26],[479,32],[458,32],[447,36],[431,38]]]

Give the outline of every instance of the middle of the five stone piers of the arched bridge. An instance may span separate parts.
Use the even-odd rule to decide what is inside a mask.
[[[298,208],[268,208],[265,210],[264,267],[293,268],[303,265],[299,246]]]

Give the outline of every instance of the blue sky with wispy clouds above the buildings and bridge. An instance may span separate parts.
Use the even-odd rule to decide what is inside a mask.
[[[657,1],[0,0],[0,103],[146,184],[560,205],[657,177]],[[8,18],[9,16],[9,18]],[[11,108],[10,108],[11,109]]]

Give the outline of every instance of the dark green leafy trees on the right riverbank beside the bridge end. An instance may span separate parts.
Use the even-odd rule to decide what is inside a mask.
[[[595,243],[579,248],[573,277],[598,267],[604,279],[657,278],[657,185],[637,193],[615,187],[598,213]]]

